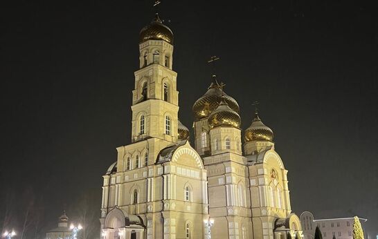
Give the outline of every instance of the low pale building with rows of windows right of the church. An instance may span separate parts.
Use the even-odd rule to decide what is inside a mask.
[[[367,219],[359,218],[360,222]],[[314,215],[309,211],[300,214],[300,223],[303,229],[303,239],[314,238],[315,229],[319,227],[323,238],[353,239],[354,218],[329,218],[314,219]]]

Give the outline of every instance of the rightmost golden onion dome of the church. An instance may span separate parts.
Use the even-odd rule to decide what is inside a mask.
[[[262,140],[273,142],[273,131],[266,126],[258,117],[258,113],[255,112],[255,118],[249,128],[244,131],[244,139],[246,142]]]

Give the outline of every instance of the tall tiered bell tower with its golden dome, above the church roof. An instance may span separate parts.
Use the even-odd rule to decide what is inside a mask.
[[[173,33],[159,15],[143,28],[132,90],[132,142],[147,137],[177,143],[179,92],[172,70]]]

